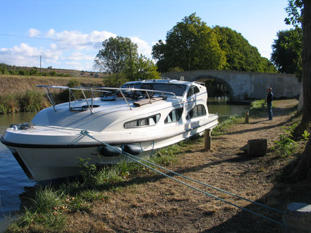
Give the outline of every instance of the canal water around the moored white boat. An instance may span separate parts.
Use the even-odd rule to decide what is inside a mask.
[[[210,98],[209,113],[218,113],[220,121],[229,115],[241,115],[248,106],[227,105],[224,98]],[[11,124],[30,122],[35,113],[0,114],[0,137]],[[20,209],[23,196],[33,190],[36,182],[29,180],[11,152],[0,143],[0,232],[5,218]]]

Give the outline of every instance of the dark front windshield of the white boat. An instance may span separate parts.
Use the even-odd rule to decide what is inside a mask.
[[[126,83],[122,88],[135,88],[135,89],[154,89],[162,92],[173,92],[176,96],[183,96],[186,85],[184,84],[173,84],[173,83]],[[167,94],[166,94],[167,95]]]

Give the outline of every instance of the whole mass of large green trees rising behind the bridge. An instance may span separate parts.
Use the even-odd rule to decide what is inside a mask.
[[[276,72],[267,58],[238,32],[208,27],[195,13],[183,18],[152,47],[161,72],[169,70],[240,70]]]

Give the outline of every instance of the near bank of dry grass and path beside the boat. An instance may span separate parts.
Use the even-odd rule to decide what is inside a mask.
[[[245,124],[243,118],[229,118],[214,130],[212,151],[203,151],[203,138],[195,137],[161,149],[150,159],[169,170],[281,210],[291,201],[311,203],[309,183],[282,181],[287,166],[303,151],[305,141],[298,141],[295,151],[286,157],[276,147],[280,135],[286,136],[300,120],[294,115],[295,103],[274,101],[272,121],[267,121],[266,108],[261,104],[250,111],[250,124]],[[255,138],[268,139],[266,156],[253,158],[240,151],[248,139]],[[41,188],[35,196],[23,199],[25,207],[8,232],[283,230],[273,222],[197,193],[136,163],[102,170],[96,170],[87,160],[80,161],[80,165],[84,168],[80,180]],[[243,200],[238,205],[281,221],[280,215]]]

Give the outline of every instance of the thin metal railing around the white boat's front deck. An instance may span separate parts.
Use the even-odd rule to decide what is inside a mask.
[[[75,95],[73,94],[73,90],[80,90],[83,94],[83,97],[85,99],[85,102],[87,103],[87,108],[90,110],[90,112],[93,114],[93,99],[94,99],[94,92],[106,92],[110,93],[111,91],[114,92],[119,92],[126,101],[127,106],[132,110],[132,107],[130,106],[130,103],[128,102],[128,97],[126,96],[126,92],[145,92],[145,97],[149,99],[150,103],[152,103],[152,96],[155,93],[159,93],[161,96],[163,96],[163,99],[167,99],[169,96],[173,96],[173,98],[177,98],[176,94],[173,92],[164,92],[164,91],[159,91],[159,90],[153,90],[153,89],[138,89],[138,88],[122,88],[122,87],[65,87],[65,86],[49,86],[49,85],[37,85],[36,87],[41,87],[45,94],[47,94],[47,98],[49,99],[51,105],[54,108],[54,111],[56,111],[56,103],[53,99],[53,96],[51,95],[51,92],[49,89],[68,89],[68,94],[69,94],[69,110],[71,110],[71,96],[73,96],[73,99],[77,101],[75,98]],[[87,98],[85,95],[85,91],[90,91],[91,92],[91,97]],[[153,94],[151,95],[150,92]],[[90,99],[91,103],[89,103],[88,99]]]

